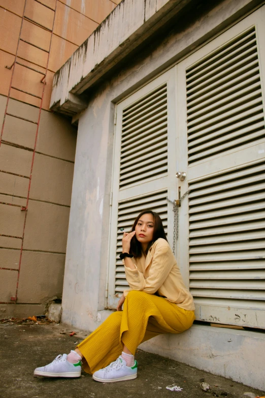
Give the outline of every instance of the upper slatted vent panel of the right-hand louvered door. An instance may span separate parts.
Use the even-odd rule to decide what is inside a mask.
[[[265,137],[255,28],[186,71],[188,162]]]

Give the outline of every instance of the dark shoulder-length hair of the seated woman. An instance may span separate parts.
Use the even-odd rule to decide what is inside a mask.
[[[160,219],[160,216],[149,209],[143,210],[139,216],[136,218],[134,225],[132,226],[130,232],[135,231],[135,227],[140,220],[140,218],[144,214],[151,214],[154,218],[154,232],[153,232],[153,239],[151,242],[148,243],[146,252],[144,253],[145,255],[148,253],[148,250],[151,248],[152,244],[158,239],[158,238],[163,238],[168,241],[167,236],[165,235],[164,232],[164,227],[162,224],[162,220]],[[136,236],[133,236],[131,241],[130,241],[130,254],[132,254],[135,258],[140,258],[142,256],[142,246],[141,243],[136,239]]]

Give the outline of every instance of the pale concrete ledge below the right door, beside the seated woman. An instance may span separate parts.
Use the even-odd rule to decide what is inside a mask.
[[[265,334],[193,325],[181,334],[162,334],[143,344],[159,354],[215,375],[265,390]]]

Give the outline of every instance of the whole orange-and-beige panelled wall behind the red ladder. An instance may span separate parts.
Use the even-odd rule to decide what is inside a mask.
[[[0,143],[0,317],[43,314],[45,302],[62,295],[77,130],[71,119],[49,111],[52,79],[119,1],[42,3],[52,9],[56,6],[53,35],[28,20],[24,20],[21,30],[22,39],[47,51],[51,41],[51,49],[19,278],[21,239],[10,236],[23,234],[25,212],[21,206],[26,206],[40,99],[11,89],[7,111],[17,117],[6,116]],[[15,59],[24,5],[25,0],[0,0],[1,127],[13,71],[5,66],[11,66]],[[51,29],[54,13],[50,8],[26,0],[25,16]],[[47,52],[20,41],[17,56],[20,63],[45,73]],[[12,86],[41,96],[43,75],[32,69],[16,65]],[[11,297],[16,298],[16,305]]]

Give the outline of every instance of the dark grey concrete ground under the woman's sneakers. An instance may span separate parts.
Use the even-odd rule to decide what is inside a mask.
[[[223,377],[191,368],[171,359],[137,352],[138,378],[119,383],[98,383],[84,372],[79,379],[34,377],[37,366],[51,362],[55,356],[68,353],[85,337],[69,326],[23,321],[0,323],[1,398],[254,398],[265,393]],[[43,321],[45,322],[45,321]],[[202,390],[201,383],[210,385]],[[167,387],[178,386],[180,391]]]

